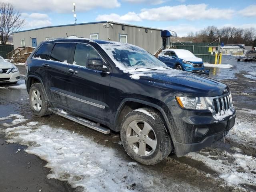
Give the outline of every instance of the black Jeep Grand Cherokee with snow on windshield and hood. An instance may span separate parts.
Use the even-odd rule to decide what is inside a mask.
[[[33,112],[104,134],[147,165],[210,146],[235,122],[228,86],[168,68],[137,46],[85,38],[42,42],[26,61]]]

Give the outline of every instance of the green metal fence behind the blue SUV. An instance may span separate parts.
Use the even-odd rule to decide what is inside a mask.
[[[215,53],[218,52],[218,42],[213,42],[213,43],[177,42],[176,48],[189,50],[195,56],[202,58],[204,62],[214,63]]]

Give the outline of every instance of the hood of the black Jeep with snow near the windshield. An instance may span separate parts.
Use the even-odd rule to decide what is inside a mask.
[[[228,86],[214,79],[202,77],[180,70],[156,70],[132,72],[131,78],[145,80],[154,86],[162,86],[180,91],[184,96],[214,97],[229,92]]]

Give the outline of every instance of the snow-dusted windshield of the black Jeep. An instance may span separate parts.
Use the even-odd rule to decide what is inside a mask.
[[[164,69],[167,66],[144,49],[119,42],[98,42],[120,70]]]

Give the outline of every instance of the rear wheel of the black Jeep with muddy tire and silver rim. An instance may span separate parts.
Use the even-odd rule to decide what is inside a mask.
[[[50,107],[49,102],[41,83],[32,84],[29,90],[29,104],[32,111],[37,116],[46,116],[51,114],[48,110]]]

